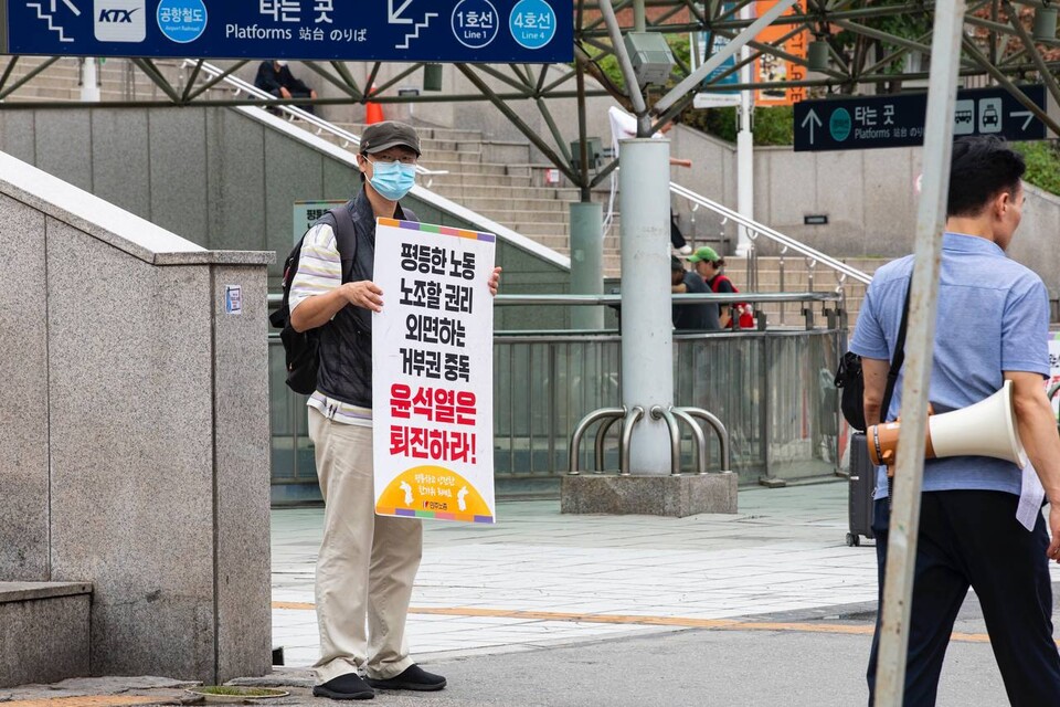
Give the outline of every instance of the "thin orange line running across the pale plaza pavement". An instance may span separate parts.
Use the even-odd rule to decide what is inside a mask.
[[[314,610],[310,602],[274,601],[273,609]],[[793,631],[802,633],[834,633],[872,635],[872,625],[831,623],[773,623],[761,621],[731,621],[728,619],[691,619],[687,616],[638,616],[625,614],[575,614],[551,611],[511,611],[508,609],[465,608],[411,608],[411,614],[435,616],[491,616],[496,619],[521,619],[532,621],[570,621],[576,623],[629,624],[637,626],[677,626],[680,629],[711,629],[714,631]],[[958,643],[989,643],[985,633],[954,633],[952,641]],[[3,707],[9,707],[4,705]]]

